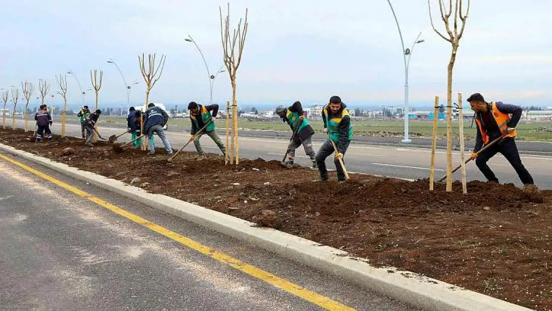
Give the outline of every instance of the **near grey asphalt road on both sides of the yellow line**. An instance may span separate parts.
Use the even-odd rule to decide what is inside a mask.
[[[4,154],[5,155],[5,154]],[[359,310],[413,310],[84,182],[46,175]],[[0,305],[39,310],[320,310],[0,159]]]

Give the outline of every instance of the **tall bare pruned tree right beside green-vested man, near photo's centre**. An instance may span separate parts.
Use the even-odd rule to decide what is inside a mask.
[[[220,35],[222,39],[222,52],[224,65],[230,76],[230,83],[232,83],[232,142],[231,153],[232,159],[230,162],[235,161],[235,164],[239,162],[239,150],[238,146],[238,117],[237,117],[237,101],[236,101],[236,73],[238,67],[240,67],[241,57],[243,53],[243,46],[245,45],[245,38],[247,36],[247,8],[245,9],[245,20],[240,18],[238,27],[230,30],[230,3],[227,4],[226,18],[222,19],[222,8],[219,7],[220,13]],[[237,50],[236,50],[237,44]],[[228,147],[228,146],[227,146]],[[229,154],[229,151],[227,151]]]

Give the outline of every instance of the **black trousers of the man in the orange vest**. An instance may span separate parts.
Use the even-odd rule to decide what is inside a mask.
[[[491,157],[495,156],[498,152],[500,152],[506,160],[510,162],[510,165],[512,165],[514,170],[516,170],[519,179],[524,185],[533,184],[533,177],[531,177],[525,166],[523,166],[521,159],[519,158],[516,141],[512,138],[507,138],[499,143],[496,143],[495,145],[492,145],[489,149],[481,152],[481,154],[475,159],[475,164],[479,167],[479,170],[483,173],[483,175],[485,175],[488,181],[498,182],[498,178],[496,178],[495,173],[493,173],[489,165],[487,165],[487,162],[491,159]]]

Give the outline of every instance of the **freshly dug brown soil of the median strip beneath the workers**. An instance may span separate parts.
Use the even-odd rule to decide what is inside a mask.
[[[374,266],[394,266],[523,305],[552,309],[552,191],[530,202],[514,185],[474,181],[468,194],[428,181],[352,174],[317,182],[308,168],[278,161],[182,152],[167,162],[109,143],[81,139],[34,143],[22,131],[0,131],[0,143],[166,194],[260,225],[348,251]],[[65,150],[71,147],[75,151]],[[65,154],[65,155],[63,155]],[[539,198],[534,201],[539,201]],[[392,271],[390,271],[392,273]]]

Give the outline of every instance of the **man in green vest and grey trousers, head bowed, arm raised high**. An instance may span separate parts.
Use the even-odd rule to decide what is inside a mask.
[[[289,160],[286,161],[285,164],[293,166],[295,149],[302,144],[305,149],[305,154],[307,154],[312,161],[312,168],[318,168],[316,164],[316,154],[312,149],[312,135],[314,135],[314,129],[312,129],[307,119],[303,117],[301,103],[295,102],[289,108],[279,106],[276,108],[275,113],[282,118],[283,122],[288,123],[291,131],[295,133],[288,146]]]

